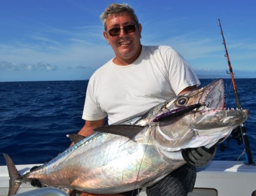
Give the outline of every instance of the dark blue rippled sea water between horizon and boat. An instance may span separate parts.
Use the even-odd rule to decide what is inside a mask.
[[[204,86],[214,79],[200,79]],[[227,107],[236,107],[230,79],[224,79]],[[246,130],[253,160],[256,160],[256,79],[237,79],[243,108],[250,110]],[[14,164],[45,163],[70,145],[67,134],[77,133],[87,80],[0,82],[0,154]],[[224,142],[227,146],[227,140]],[[243,145],[229,140],[229,149],[218,148],[215,160],[237,160]],[[240,158],[244,160],[244,156]],[[0,155],[0,165],[5,165]]]

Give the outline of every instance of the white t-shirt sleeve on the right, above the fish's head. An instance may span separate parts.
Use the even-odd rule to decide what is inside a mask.
[[[172,86],[176,95],[188,86],[200,85],[200,81],[193,69],[173,48],[167,50],[165,58],[167,61],[170,86]]]

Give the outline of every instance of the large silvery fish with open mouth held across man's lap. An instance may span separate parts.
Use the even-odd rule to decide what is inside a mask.
[[[225,110],[223,80],[167,100],[110,126],[20,176],[10,157],[8,195],[38,179],[66,190],[111,194],[151,185],[185,164],[181,150],[211,147],[244,122],[249,111]],[[124,111],[125,112],[125,111]]]

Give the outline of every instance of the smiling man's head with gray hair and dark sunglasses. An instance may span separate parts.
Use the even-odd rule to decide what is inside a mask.
[[[111,4],[100,16],[103,35],[113,48],[114,62],[127,65],[134,62],[141,52],[141,24],[134,10],[127,4]]]

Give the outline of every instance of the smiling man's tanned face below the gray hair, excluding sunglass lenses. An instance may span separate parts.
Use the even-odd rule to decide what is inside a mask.
[[[106,30],[103,32],[104,37],[113,48],[116,57],[114,62],[119,65],[127,65],[134,62],[141,52],[141,25],[136,26],[136,31],[132,33],[126,33],[122,28],[127,25],[136,25],[136,21],[133,17],[123,12],[118,15],[111,15],[106,20]],[[113,28],[121,28],[120,34],[111,36],[108,32]]]

